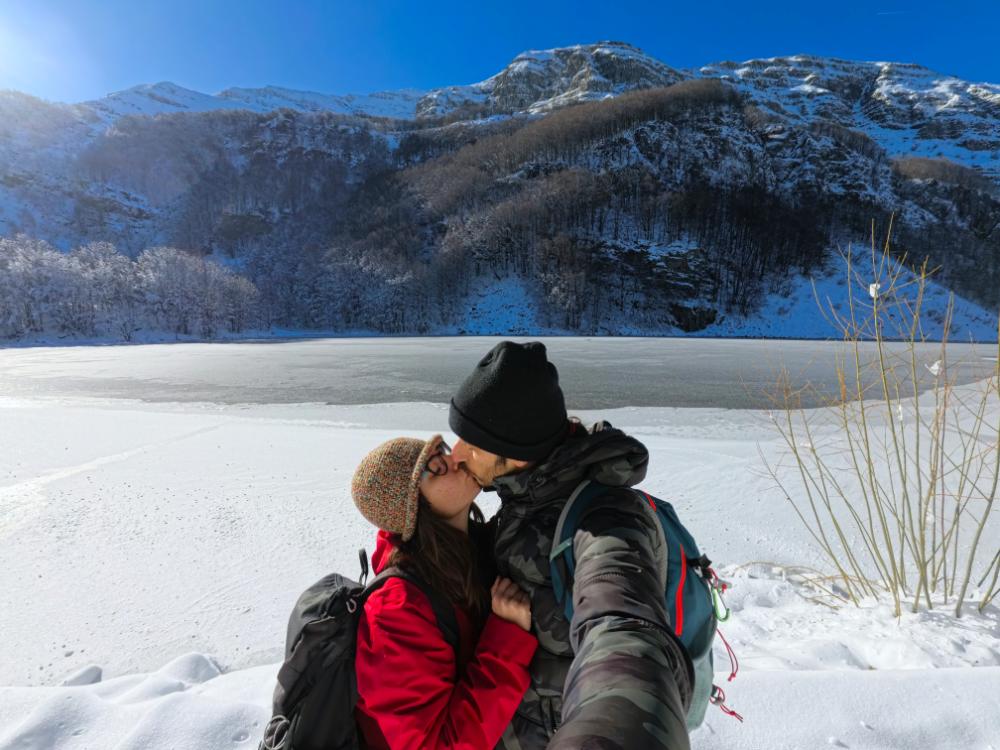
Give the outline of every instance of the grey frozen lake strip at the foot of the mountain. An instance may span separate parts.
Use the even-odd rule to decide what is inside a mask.
[[[499,338],[281,341],[0,349],[0,395],[219,404],[445,403]],[[530,340],[530,339],[517,339]],[[570,409],[761,408],[782,367],[794,385],[837,389],[840,342],[542,338]],[[888,345],[900,354],[900,344]],[[864,347],[873,356],[874,347]],[[920,347],[922,383],[939,345]],[[949,345],[957,382],[986,377],[996,346]],[[805,405],[819,405],[815,393]]]

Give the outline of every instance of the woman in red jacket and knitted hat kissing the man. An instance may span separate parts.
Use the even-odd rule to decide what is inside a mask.
[[[455,606],[456,650],[430,601],[403,578],[369,596],[358,625],[358,727],[369,748],[494,747],[528,686],[537,641],[527,595],[507,579],[487,590],[470,541],[483,530],[479,485],[440,435],[396,438],[358,466],[351,494],[378,526],[376,573],[398,566]]]

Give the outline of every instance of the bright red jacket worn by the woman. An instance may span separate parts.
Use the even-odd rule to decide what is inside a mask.
[[[380,531],[376,573],[391,550]],[[355,716],[369,748],[483,750],[500,740],[528,687],[538,642],[494,614],[481,633],[464,610],[455,614],[457,670],[423,592],[395,578],[368,598],[358,624]]]

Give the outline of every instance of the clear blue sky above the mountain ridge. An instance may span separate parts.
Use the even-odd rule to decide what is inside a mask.
[[[82,101],[139,83],[366,93],[472,83],[519,52],[615,39],[674,67],[797,53],[1000,83],[1000,0],[0,0],[0,88]]]

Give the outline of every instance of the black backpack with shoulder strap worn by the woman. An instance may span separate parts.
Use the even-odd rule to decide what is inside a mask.
[[[361,583],[332,573],[306,589],[288,618],[285,662],[278,670],[274,710],[258,750],[357,750],[354,675],[358,620],[365,601],[390,578],[404,578],[430,600],[445,641],[458,649],[455,610],[412,573],[386,568],[370,583],[368,555],[359,552]]]

